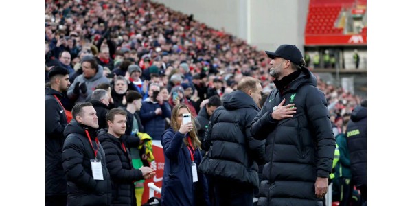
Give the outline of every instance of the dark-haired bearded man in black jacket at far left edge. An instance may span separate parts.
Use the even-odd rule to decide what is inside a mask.
[[[60,100],[70,86],[69,71],[55,66],[49,71],[46,88],[46,205],[66,205],[67,181],[62,165],[63,130],[67,125],[65,108]]]

